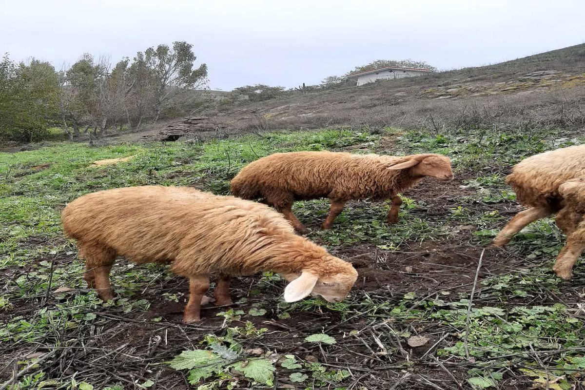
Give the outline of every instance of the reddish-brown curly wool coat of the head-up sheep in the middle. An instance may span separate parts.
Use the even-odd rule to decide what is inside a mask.
[[[316,198],[387,199],[421,180],[408,170],[388,167],[415,158],[440,154],[395,157],[330,151],[275,153],[246,165],[231,182],[232,194],[244,199],[263,198],[274,206]]]

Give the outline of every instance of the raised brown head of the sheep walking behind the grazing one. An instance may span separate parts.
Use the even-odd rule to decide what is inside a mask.
[[[414,154],[393,161],[389,170],[409,169],[414,176],[428,176],[442,181],[452,180],[451,160],[442,154]]]

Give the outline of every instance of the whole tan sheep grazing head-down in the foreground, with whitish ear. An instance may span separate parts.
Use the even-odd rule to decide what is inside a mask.
[[[201,320],[212,272],[218,274],[216,305],[232,303],[230,276],[278,272],[289,281],[287,302],[309,294],[340,302],[357,279],[350,263],[297,236],[282,215],[233,196],[181,187],[109,189],[75,199],[61,219],[86,261],[85,281],[104,301],[113,299],[109,271],[118,255],[170,263],[171,271],[189,278],[184,323]]]

